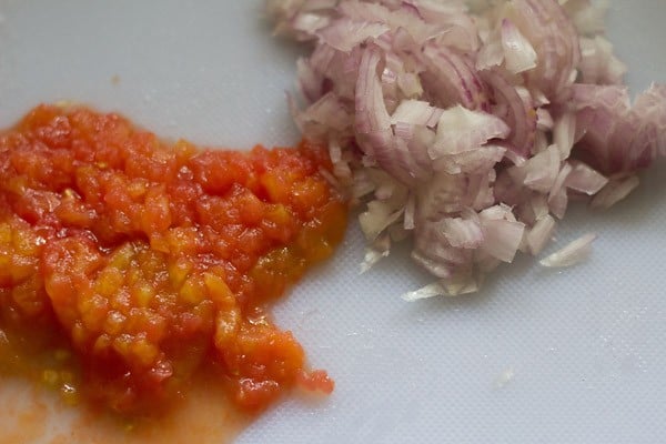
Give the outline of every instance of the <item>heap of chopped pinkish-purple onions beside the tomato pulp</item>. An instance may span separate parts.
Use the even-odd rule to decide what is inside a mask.
[[[476,291],[542,252],[568,201],[608,208],[666,155],[666,85],[632,104],[626,67],[589,0],[274,0],[275,31],[311,42],[290,97],[365,211],[362,270],[413,239],[436,281],[406,299]],[[547,266],[575,263],[589,234]]]

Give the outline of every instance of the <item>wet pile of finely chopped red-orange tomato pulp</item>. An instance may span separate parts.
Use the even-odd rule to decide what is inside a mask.
[[[329,168],[307,142],[200,150],[36,108],[0,135],[0,371],[123,415],[165,408],[202,371],[245,412],[331,392],[266,311],[343,236]]]

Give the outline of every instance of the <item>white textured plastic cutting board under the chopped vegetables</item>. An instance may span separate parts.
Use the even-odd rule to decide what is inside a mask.
[[[666,81],[666,1],[610,0],[632,91]],[[0,0],[0,124],[38,102],[119,111],[167,138],[291,144],[300,50],[261,0]],[[114,80],[115,79],[115,80]],[[477,295],[406,303],[428,278],[396,250],[359,275],[354,222],[276,319],[336,381],[287,400],[249,443],[655,443],[666,440],[666,162],[605,213],[574,206],[549,251],[598,233],[588,262],[521,256]]]

